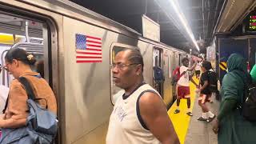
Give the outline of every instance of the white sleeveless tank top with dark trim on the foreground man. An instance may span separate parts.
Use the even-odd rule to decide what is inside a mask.
[[[139,113],[138,99],[145,92],[158,94],[150,85],[143,83],[130,96],[120,94],[110,115],[106,144],[159,144],[157,138],[146,130]],[[158,94],[160,97],[160,94]]]

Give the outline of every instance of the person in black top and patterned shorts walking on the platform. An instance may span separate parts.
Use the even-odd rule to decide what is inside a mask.
[[[215,118],[215,114],[213,114],[206,106],[206,102],[210,102],[210,96],[212,93],[209,85],[210,69],[212,69],[210,62],[202,62],[202,75],[200,78],[201,88],[197,91],[198,93],[200,93],[200,96],[198,98],[198,105],[202,108],[202,116],[198,118],[198,121],[211,122]]]

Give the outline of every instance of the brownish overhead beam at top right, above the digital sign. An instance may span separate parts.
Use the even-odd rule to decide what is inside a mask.
[[[242,20],[254,10],[256,1],[254,0],[226,0],[226,7],[222,10],[221,18],[219,19],[217,33],[225,33],[234,30]]]

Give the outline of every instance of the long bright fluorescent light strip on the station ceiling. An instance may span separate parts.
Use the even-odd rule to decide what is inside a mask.
[[[181,11],[181,8],[178,5],[178,2],[176,0],[170,0],[171,6],[173,6],[175,13],[178,15],[179,20],[182,22],[182,25],[185,27],[186,33],[189,34],[190,39],[194,43],[194,46],[197,48],[198,51],[200,51],[198,43],[196,42],[194,38],[194,34],[192,33],[192,30],[190,29],[190,26],[188,25],[188,22],[186,21],[186,18],[184,14]]]

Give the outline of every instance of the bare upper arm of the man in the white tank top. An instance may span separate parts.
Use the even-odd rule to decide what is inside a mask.
[[[162,144],[179,144],[178,136],[158,94],[145,93],[139,99],[139,110],[147,128]]]

